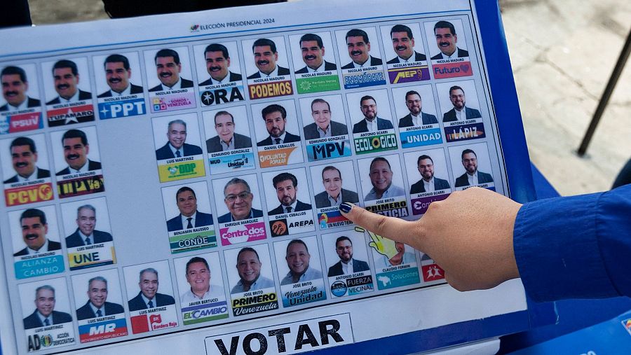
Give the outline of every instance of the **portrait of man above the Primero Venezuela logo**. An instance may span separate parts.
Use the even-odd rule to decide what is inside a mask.
[[[256,249],[246,246],[237,254],[236,269],[239,281],[230,293],[257,291],[263,288],[274,287],[274,281],[261,275],[263,263]]]

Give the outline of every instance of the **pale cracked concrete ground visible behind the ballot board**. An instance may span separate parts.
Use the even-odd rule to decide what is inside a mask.
[[[107,18],[100,0],[31,0],[36,24]],[[631,60],[581,143],[631,26],[628,0],[500,0],[531,160],[562,195],[607,190],[631,158]]]

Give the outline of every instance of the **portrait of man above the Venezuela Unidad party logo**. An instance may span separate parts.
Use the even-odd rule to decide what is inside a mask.
[[[285,261],[290,271],[280,280],[280,286],[322,279],[322,272],[315,267],[309,267],[309,260],[311,260],[311,254],[302,239],[293,239],[289,242],[285,252]]]

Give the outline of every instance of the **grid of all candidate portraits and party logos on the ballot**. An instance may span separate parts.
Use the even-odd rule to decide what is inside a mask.
[[[338,207],[418,218],[452,191],[496,189],[494,119],[465,25],[456,15],[5,65],[3,243],[28,349],[444,283],[429,256]],[[121,265],[104,188],[115,164],[102,169],[97,133],[134,116],[150,121],[155,238],[170,255]],[[50,132],[31,132],[44,121]]]

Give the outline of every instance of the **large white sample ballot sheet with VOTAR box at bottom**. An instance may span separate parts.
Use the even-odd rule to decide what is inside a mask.
[[[3,351],[428,335],[403,353],[527,328],[520,281],[459,293],[339,212],[514,193],[478,21],[463,0],[326,0],[2,31]]]

